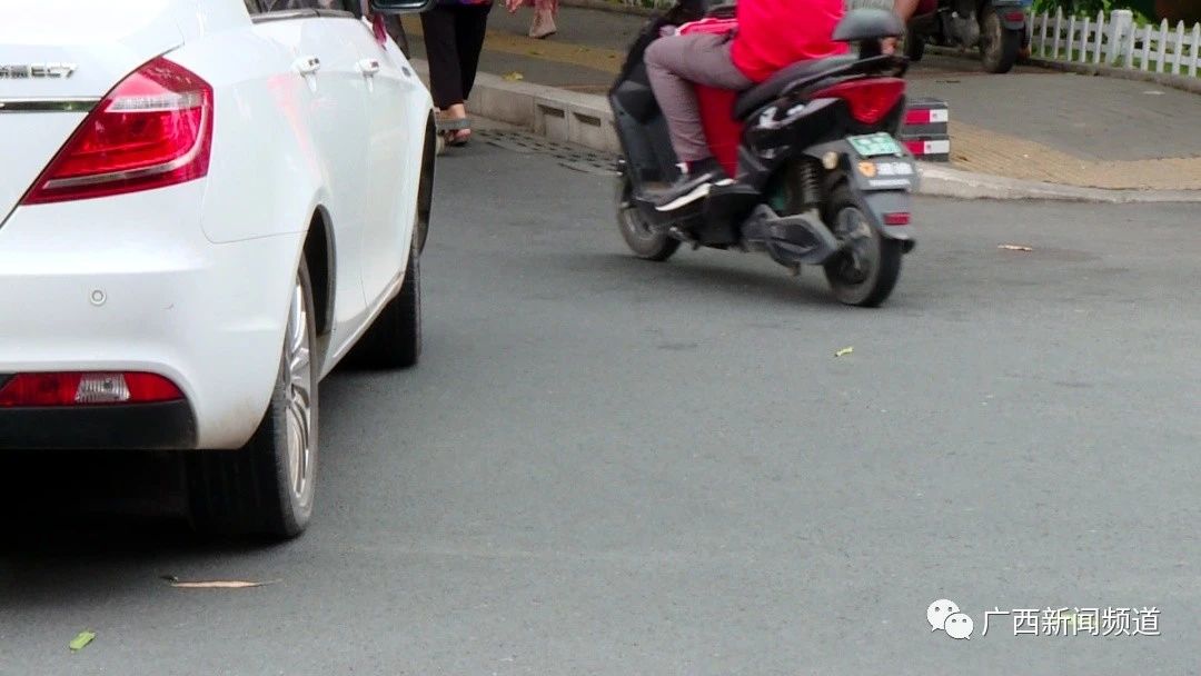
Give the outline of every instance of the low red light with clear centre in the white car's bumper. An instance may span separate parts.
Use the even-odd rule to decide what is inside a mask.
[[[154,373],[20,373],[0,388],[0,408],[153,403],[184,399]]]

